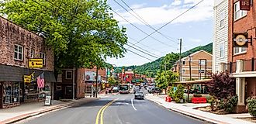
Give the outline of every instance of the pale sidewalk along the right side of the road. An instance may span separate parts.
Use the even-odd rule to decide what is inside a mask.
[[[202,112],[194,107],[188,107],[184,105],[188,104],[176,104],[175,102],[165,102],[163,96],[156,95],[146,95],[146,98],[150,101],[156,102],[158,105],[163,106],[164,108],[171,109],[172,111],[182,113],[184,115],[189,115],[196,119],[202,119],[208,122],[213,123],[222,123],[222,124],[255,124],[253,122],[247,122],[241,119],[232,119],[232,117],[226,115],[216,115],[209,112]]]

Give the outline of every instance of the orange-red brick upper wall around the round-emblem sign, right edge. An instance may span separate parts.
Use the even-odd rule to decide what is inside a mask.
[[[253,40],[252,46],[249,43],[249,47],[247,48],[247,53],[243,54],[238,54],[238,55],[233,55],[233,33],[245,33],[248,30],[248,36],[253,36],[256,37],[256,1],[253,1],[253,5],[251,6],[251,11],[247,11],[247,15],[244,16],[243,18],[233,20],[234,18],[234,3],[237,2],[237,0],[230,0],[229,1],[229,13],[228,13],[228,60],[229,62],[231,61],[236,61],[238,59],[251,59],[251,57],[256,57],[256,44],[255,40]],[[233,26],[234,22],[234,26]],[[234,28],[234,29],[233,29]]]

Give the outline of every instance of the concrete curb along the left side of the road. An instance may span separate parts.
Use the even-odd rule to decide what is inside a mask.
[[[90,99],[86,102],[69,102],[69,103],[65,103],[65,104],[61,104],[61,105],[54,105],[50,108],[46,108],[46,109],[43,109],[43,110],[40,110],[38,112],[29,112],[29,113],[26,113],[26,114],[22,114],[22,115],[17,115],[16,117],[12,117],[10,119],[5,119],[3,120],[2,122],[0,122],[0,124],[12,124],[14,122],[19,122],[19,121],[22,121],[24,119],[29,119],[33,116],[36,116],[36,115],[41,115],[43,113],[46,113],[46,112],[51,112],[51,111],[54,111],[54,110],[57,110],[57,109],[61,109],[61,108],[68,108],[68,107],[72,107],[74,105],[81,105],[82,103],[87,103],[87,102],[92,102],[92,101],[95,101],[99,98],[95,98],[95,99]]]

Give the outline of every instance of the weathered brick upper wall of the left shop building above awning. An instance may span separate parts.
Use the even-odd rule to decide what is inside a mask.
[[[15,44],[23,47],[23,60],[14,60]],[[0,64],[28,67],[30,50],[35,51],[34,58],[46,53],[43,70],[54,71],[54,51],[46,47],[43,38],[0,17]]]

